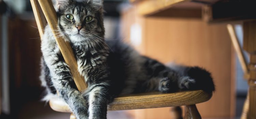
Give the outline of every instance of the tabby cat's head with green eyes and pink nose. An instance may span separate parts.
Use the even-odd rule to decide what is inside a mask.
[[[58,27],[71,41],[104,36],[103,0],[56,0]]]

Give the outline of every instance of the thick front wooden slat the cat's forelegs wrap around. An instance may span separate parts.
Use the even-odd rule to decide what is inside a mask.
[[[85,83],[84,77],[80,75],[77,71],[77,62],[74,56],[73,50],[69,42],[65,42],[62,37],[58,37],[58,29],[57,29],[57,15],[55,9],[53,7],[51,0],[38,0],[42,11],[45,15],[45,18],[52,29],[53,35],[56,39],[58,47],[61,51],[62,56],[64,57],[65,62],[68,64],[71,74],[73,76],[76,87],[79,91],[83,91],[87,88],[87,84]]]

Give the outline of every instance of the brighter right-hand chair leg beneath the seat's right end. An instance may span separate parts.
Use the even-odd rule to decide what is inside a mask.
[[[201,116],[195,104],[185,106],[184,119],[201,119]]]

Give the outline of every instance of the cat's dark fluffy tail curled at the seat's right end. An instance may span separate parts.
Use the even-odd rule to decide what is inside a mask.
[[[189,76],[190,78],[195,79],[196,83],[192,89],[200,89],[208,93],[215,91],[215,85],[211,73],[204,68],[198,66],[190,67],[176,65],[173,63],[170,64],[169,67],[180,73],[180,75]]]

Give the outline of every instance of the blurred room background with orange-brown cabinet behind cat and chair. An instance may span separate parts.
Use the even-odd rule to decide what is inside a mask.
[[[184,2],[161,12],[152,11],[154,0],[150,4],[146,1],[150,0],[104,0],[105,38],[123,40],[141,54],[163,63],[208,69],[216,92],[211,100],[197,105],[202,118],[240,117],[248,86],[231,44],[227,22],[214,23],[207,18],[206,22],[201,12],[204,5],[221,0]],[[242,43],[242,22],[232,23]],[[0,46],[0,118],[69,119],[69,113],[55,112],[40,101],[42,54],[29,0],[0,0]],[[111,111],[108,117],[169,119],[172,115],[168,107]]]

